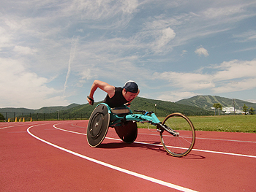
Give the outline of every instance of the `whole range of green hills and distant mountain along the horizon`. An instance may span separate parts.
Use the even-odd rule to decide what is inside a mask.
[[[100,101],[102,102],[102,101]],[[50,120],[50,119],[85,119],[90,118],[91,112],[99,104],[94,106],[89,104],[70,104],[67,107],[42,107],[39,110],[29,110],[26,108],[0,108],[0,113],[4,118],[13,117],[32,117],[34,120]],[[135,98],[132,101],[130,109],[154,111],[158,117],[165,117],[173,112],[181,112],[184,115],[214,115],[211,110],[214,103],[222,104],[222,107],[233,107],[233,99],[220,96],[193,96],[189,99],[181,99],[177,102],[160,101],[154,99],[146,99],[142,97]],[[157,104],[157,105],[155,105]],[[235,99],[236,109],[247,105],[256,109],[255,103]]]

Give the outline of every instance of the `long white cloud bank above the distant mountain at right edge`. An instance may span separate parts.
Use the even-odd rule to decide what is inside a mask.
[[[181,93],[210,90],[214,93],[244,91],[256,87],[256,61],[228,61],[213,67],[212,74],[185,72],[155,72],[155,80],[167,80],[170,87]]]

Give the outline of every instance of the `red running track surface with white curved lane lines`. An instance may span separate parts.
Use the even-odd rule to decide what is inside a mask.
[[[174,158],[148,129],[126,144],[109,128],[89,147],[87,123],[0,123],[1,191],[256,191],[255,134],[196,131]]]

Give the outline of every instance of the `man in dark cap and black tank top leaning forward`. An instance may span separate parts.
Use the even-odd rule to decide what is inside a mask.
[[[121,107],[123,104],[129,106],[132,100],[140,93],[136,82],[131,80],[127,81],[123,88],[117,88],[113,85],[109,85],[107,82],[94,80],[94,83],[91,85],[90,94],[87,96],[87,101],[91,105],[94,104],[94,92],[97,88],[108,93],[103,103],[108,104],[111,108]]]

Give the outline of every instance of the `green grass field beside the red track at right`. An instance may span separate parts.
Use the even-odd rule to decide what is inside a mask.
[[[256,115],[192,116],[189,119],[196,131],[256,133]],[[148,128],[148,123],[138,123],[138,128]],[[149,128],[155,126],[149,125]]]

